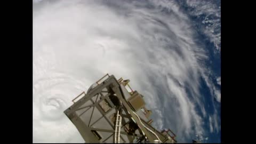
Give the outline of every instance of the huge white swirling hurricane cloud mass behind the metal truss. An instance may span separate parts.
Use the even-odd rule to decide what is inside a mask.
[[[166,2],[166,13],[163,2],[34,1],[33,142],[83,142],[63,110],[106,73],[129,78],[154,125],[180,142],[219,131],[219,112],[206,114],[199,91],[203,79],[220,102],[205,48],[177,3]]]

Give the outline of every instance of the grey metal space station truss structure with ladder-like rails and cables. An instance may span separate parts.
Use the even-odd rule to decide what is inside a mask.
[[[170,129],[159,132],[151,125],[151,110],[129,82],[107,74],[64,113],[86,143],[176,143]]]

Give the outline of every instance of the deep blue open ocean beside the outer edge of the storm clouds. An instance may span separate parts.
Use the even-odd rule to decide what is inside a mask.
[[[205,19],[205,17],[207,16],[207,18],[209,20],[216,20],[216,19],[220,19],[217,17],[214,17],[214,15],[206,15],[205,13],[201,13],[200,15],[194,15],[194,14],[190,14],[191,12],[195,11],[195,9],[198,9],[198,7],[190,7],[187,5],[187,3],[185,1],[177,1],[180,4],[180,7],[183,11],[185,11],[185,13],[187,13],[187,15],[189,16],[190,20],[193,22],[193,26],[195,27],[195,30],[197,31],[197,37],[198,39],[200,39],[200,44],[203,45],[203,47],[205,48],[205,51],[207,52],[207,57],[208,59],[205,61],[205,65],[212,71],[212,75],[210,76],[211,81],[215,84],[215,86],[217,86],[218,89],[220,89],[220,85],[217,84],[217,81],[215,81],[215,79],[217,77],[221,76],[221,59],[220,59],[220,51],[216,51],[216,47],[214,45],[213,42],[210,41],[209,37],[207,37],[202,29],[205,26],[205,23],[203,23],[202,21]],[[215,4],[216,6],[220,6],[220,1],[211,1],[212,4]],[[220,23],[218,23],[219,26],[215,27],[214,29],[214,33],[220,33]],[[203,94],[205,96],[204,99],[204,107],[205,107],[205,111],[207,113],[207,115],[213,115],[214,113],[217,113],[218,119],[220,121],[220,103],[216,100],[213,99],[212,100],[212,94],[209,90],[209,88],[207,87],[205,81],[203,78],[201,78],[201,89],[200,89],[201,94]],[[214,109],[216,109],[216,111],[214,111]],[[202,115],[202,113],[201,113]],[[213,131],[210,132],[209,129],[209,118],[206,116],[204,118],[204,127],[205,130],[207,131],[207,137],[209,139],[203,141],[203,142],[220,142],[220,131]],[[218,123],[220,125],[220,122]],[[221,127],[221,126],[219,126]],[[196,139],[196,138],[194,138]]]

